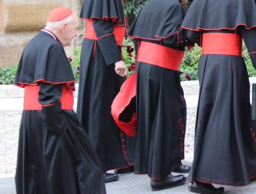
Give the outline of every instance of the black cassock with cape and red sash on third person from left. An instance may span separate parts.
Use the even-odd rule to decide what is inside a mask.
[[[185,45],[192,44],[179,28],[184,17],[178,1],[151,0],[128,32],[137,53],[134,173],[154,179],[166,178],[184,159],[187,107],[178,68]]]

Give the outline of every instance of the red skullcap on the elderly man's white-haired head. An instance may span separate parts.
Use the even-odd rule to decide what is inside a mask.
[[[72,15],[73,11],[67,7],[56,7],[48,16],[47,22],[55,22]]]

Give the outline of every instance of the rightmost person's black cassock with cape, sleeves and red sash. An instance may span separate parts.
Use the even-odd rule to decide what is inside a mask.
[[[250,127],[250,84],[244,39],[256,67],[254,0],[194,0],[182,23],[202,44],[194,161],[188,181],[244,186],[256,176],[256,141]]]

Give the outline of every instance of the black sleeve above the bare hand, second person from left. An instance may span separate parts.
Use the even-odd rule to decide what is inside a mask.
[[[114,23],[111,20],[93,18],[92,24],[107,65],[122,61],[121,50],[113,34]]]

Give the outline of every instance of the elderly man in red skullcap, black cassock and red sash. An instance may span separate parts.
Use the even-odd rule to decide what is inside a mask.
[[[104,194],[99,158],[73,111],[75,79],[63,49],[78,20],[56,7],[47,21],[25,47],[14,81],[25,88],[17,194]]]

